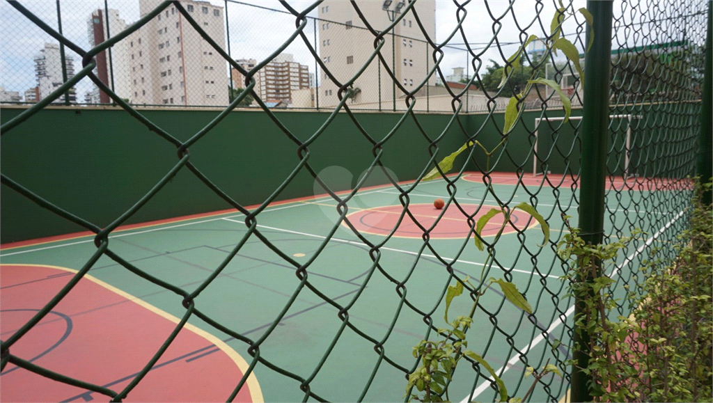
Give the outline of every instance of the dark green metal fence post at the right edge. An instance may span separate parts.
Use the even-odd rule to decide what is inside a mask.
[[[713,173],[711,172],[712,153],[711,138],[713,138],[713,122],[711,118],[711,93],[713,92],[713,1],[708,1],[708,33],[706,35],[706,62],[703,77],[703,101],[701,108],[701,133],[699,134],[699,154],[697,175],[702,183],[707,183],[711,180]],[[703,194],[702,202],[705,205],[711,204],[711,190]]]

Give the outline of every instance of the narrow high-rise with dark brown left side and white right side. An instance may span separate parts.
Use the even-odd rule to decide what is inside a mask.
[[[116,36],[126,29],[126,22],[120,18],[119,11],[109,9],[106,13],[102,9],[93,11],[87,20],[87,33],[89,44],[97,46],[111,36]],[[96,76],[120,97],[132,101],[128,46],[126,41],[119,41],[109,51],[102,51],[96,55]],[[94,87],[86,96],[89,103],[109,103],[111,98]]]

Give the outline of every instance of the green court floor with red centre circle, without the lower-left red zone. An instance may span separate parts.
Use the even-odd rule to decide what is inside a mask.
[[[530,379],[523,380],[527,366],[541,367],[548,359],[560,363],[570,354],[573,301],[565,297],[566,285],[559,278],[565,274],[563,263],[555,257],[555,249],[565,230],[560,212],[576,217],[578,192],[566,178],[550,175],[544,179],[527,174],[518,184],[514,174],[493,175],[494,193],[501,200],[510,200],[510,206],[533,203],[528,193],[538,191],[536,208],[548,220],[551,235],[547,245],[540,248],[544,240],[540,225],[524,213],[514,215],[493,245],[496,263],[488,265],[488,252],[474,245],[466,215],[452,203],[445,210],[433,207],[435,198],[448,202],[444,180],[419,183],[409,192],[409,211],[426,228],[443,213],[430,231],[428,243],[422,238],[423,230],[408,215],[394,236],[386,240],[404,210],[393,185],[360,190],[349,200],[349,223],[371,243],[386,240],[371,252],[347,225],[337,225],[337,202],[328,195],[275,203],[257,216],[256,229],[294,262],[309,262],[307,282],[301,281],[292,263],[252,234],[220,275],[198,295],[195,306],[216,322],[258,342],[260,357],[273,367],[307,379],[309,388],[301,389],[297,379],[257,363],[255,379],[265,402],[300,401],[307,390],[334,402],[356,401],[360,397],[370,402],[395,402],[403,401],[406,387],[405,374],[396,366],[409,370],[414,367],[411,347],[429,330],[424,315],[429,315],[436,327],[446,327],[441,296],[449,283],[456,282],[448,268],[461,279],[470,276],[476,285],[480,278],[504,278],[517,285],[535,312],[527,315],[508,302],[499,289],[491,288],[481,298],[473,317],[468,348],[483,354],[501,374],[511,395],[521,396],[530,387]],[[557,188],[550,187],[552,180]],[[621,180],[611,183],[612,187],[617,185],[626,184]],[[410,189],[411,183],[401,187]],[[660,215],[660,219],[652,220],[655,228],[643,228],[647,233],[635,240],[617,267],[607,268],[617,278],[620,292],[624,292],[632,267],[647,258],[645,247],[655,243],[682,216],[677,211],[645,213],[621,207],[640,203],[652,192],[662,193],[633,186],[619,192],[618,200],[607,199],[612,206],[605,220],[607,235],[630,235],[630,223],[635,222],[637,214]],[[475,174],[457,181],[455,199],[476,219],[498,205],[482,177]],[[572,220],[576,225],[576,218]],[[497,220],[493,220],[484,230],[483,239],[492,242],[498,228]],[[120,229],[112,233],[109,248],[150,275],[193,292],[247,231],[244,215],[226,211]],[[96,252],[92,236],[63,238],[4,245],[2,264],[78,270]],[[93,265],[88,275],[169,315],[185,315],[181,297],[143,280],[106,256]],[[461,295],[453,301],[450,316],[467,315],[471,305],[471,298]],[[107,308],[100,305],[93,309]],[[195,315],[189,322],[225,342],[245,362],[252,362],[247,343]],[[3,338],[11,331],[3,330]],[[208,349],[195,359],[216,351]],[[478,372],[469,368],[468,362],[460,365],[449,392],[451,401],[468,398],[473,387],[471,400],[496,398],[490,380],[476,376]],[[561,369],[565,372],[564,367]],[[239,381],[240,377],[235,377],[235,384]],[[550,374],[535,389],[532,400],[544,401],[548,395],[562,397],[568,384],[568,379]],[[131,394],[129,400],[130,397]],[[253,399],[259,400],[255,396]]]

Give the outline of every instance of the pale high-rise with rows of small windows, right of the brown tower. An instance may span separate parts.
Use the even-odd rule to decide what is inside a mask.
[[[140,0],[141,16],[161,2]],[[181,5],[215,43],[225,46],[222,7],[187,0],[181,1]],[[227,105],[227,62],[175,6],[168,6],[126,40],[133,103]]]

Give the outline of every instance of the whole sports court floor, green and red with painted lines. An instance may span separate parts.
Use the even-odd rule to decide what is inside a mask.
[[[560,183],[561,192],[570,188],[568,183],[572,185],[570,178],[561,175],[525,175],[518,183],[512,173],[493,174],[491,186],[496,194],[510,193],[513,203],[519,203],[528,188],[547,183],[544,178]],[[634,182],[619,179],[612,188],[631,187]],[[411,185],[400,184],[403,189]],[[457,185],[456,200],[467,215],[477,218],[497,205],[488,198],[482,175],[463,175]],[[642,191],[632,193],[632,198],[640,197],[637,193]],[[482,275],[511,280],[535,309],[533,315],[526,315],[493,287],[476,310],[468,332],[469,348],[484,351],[506,384],[518,382],[527,366],[513,346],[529,359],[566,359],[569,335],[562,321],[571,319],[572,301],[547,291],[564,287],[558,278],[563,269],[553,263],[552,240],[563,230],[555,214],[559,212],[555,198],[548,200],[540,193],[537,206],[545,217],[550,215],[550,244],[540,249],[539,225],[529,215],[515,213],[495,246],[494,265],[488,263],[486,252],[473,245],[467,215],[454,203],[437,210],[436,198],[448,200],[445,180],[419,183],[409,192],[409,215],[402,218],[399,191],[391,184],[371,186],[349,200],[339,225],[337,202],[329,195],[316,195],[272,203],[260,213],[249,236],[245,215],[220,211],[120,228],[111,235],[108,249],[186,292],[204,284],[228,255],[235,254],[195,298],[195,308],[203,315],[259,345],[264,362],[257,362],[235,401],[302,399],[299,378],[307,379],[314,390],[327,391],[319,397],[330,401],[401,399],[404,388],[394,384],[405,387],[406,382],[398,368],[414,366],[411,347],[426,336],[424,317],[430,315],[434,325],[445,326],[441,290],[451,280],[448,267],[461,279]],[[625,221],[632,214],[637,213],[618,210],[612,219]],[[666,225],[679,217],[670,213]],[[501,223],[492,220],[483,230],[486,243],[492,242]],[[427,243],[421,228],[429,230]],[[644,244],[654,242],[663,231],[651,234]],[[378,246],[370,251],[364,240]],[[0,255],[3,339],[24,325],[95,252],[93,237],[83,234],[4,245]],[[633,252],[629,260],[640,259],[640,252]],[[622,276],[627,273],[622,271]],[[185,316],[182,299],[102,255],[12,352],[47,369],[121,389]],[[466,315],[470,307],[469,297],[456,298],[451,317]],[[192,315],[127,401],[225,400],[253,362],[248,347],[244,340]],[[4,397],[12,400],[100,397],[17,369],[9,364],[3,372]],[[453,400],[453,396],[465,398],[471,388],[457,382],[458,374],[450,391]],[[24,384],[21,377],[39,378],[32,379],[38,387],[13,389],[12,385]],[[472,399],[495,397],[487,379],[479,377],[477,383]],[[565,394],[561,379],[553,375],[548,383],[552,388],[548,393]]]

